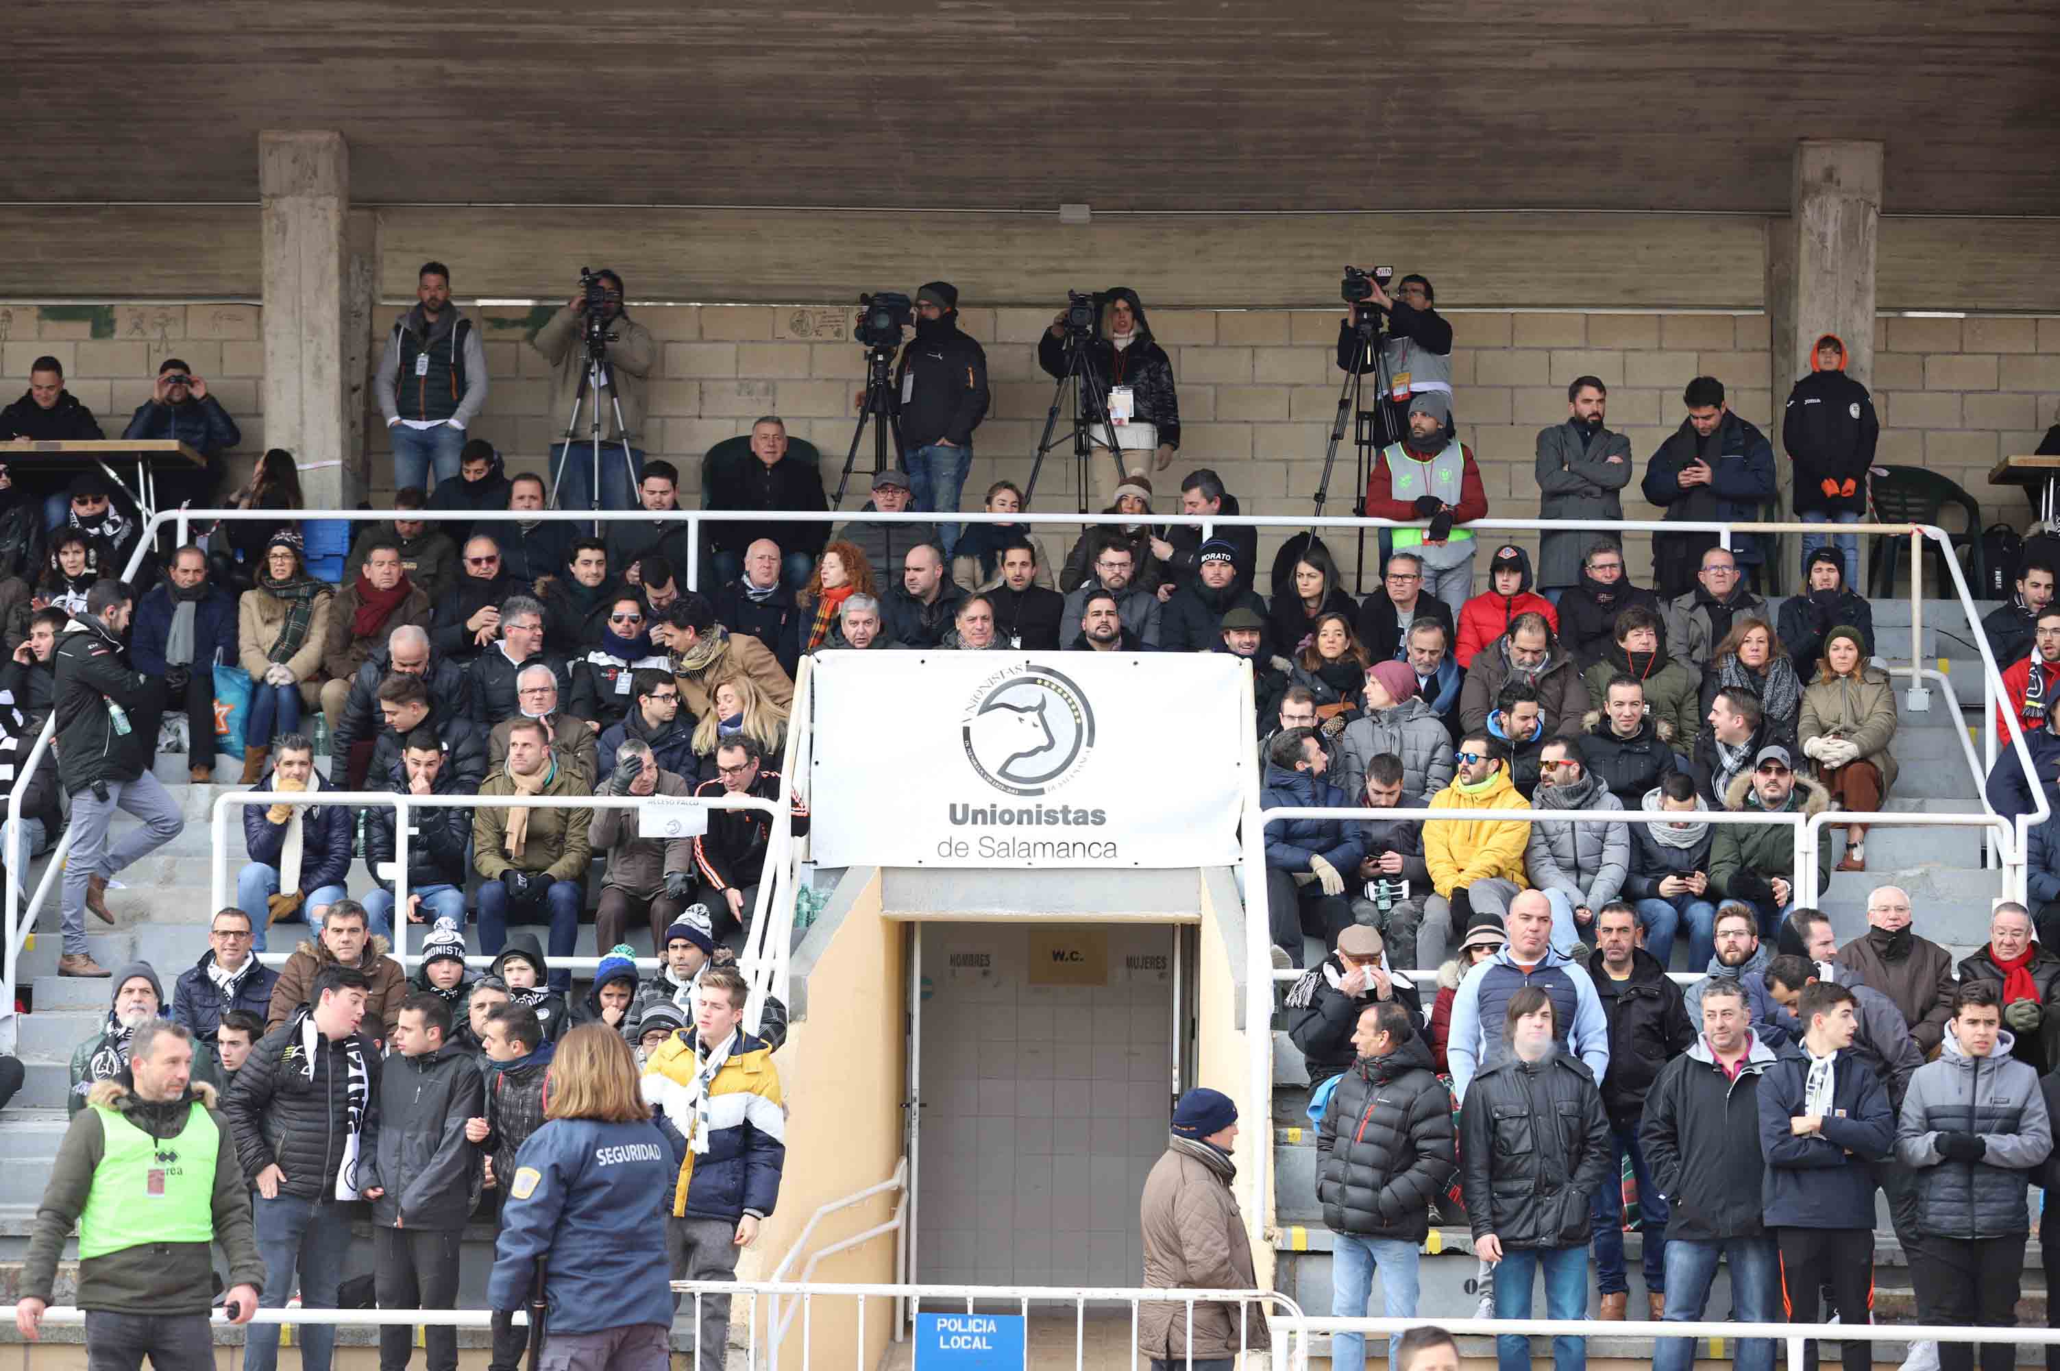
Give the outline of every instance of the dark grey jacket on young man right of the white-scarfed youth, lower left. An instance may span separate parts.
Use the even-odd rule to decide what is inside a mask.
[[[466,1142],[466,1119],[486,1109],[486,1080],[457,1043],[437,1051],[385,1060],[379,1076],[379,1148],[358,1169],[365,1190],[385,1190],[373,1200],[373,1223],[464,1229],[480,1198],[480,1159]]]

